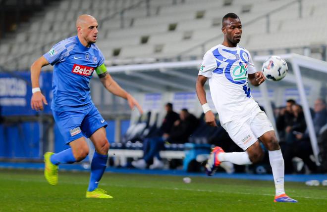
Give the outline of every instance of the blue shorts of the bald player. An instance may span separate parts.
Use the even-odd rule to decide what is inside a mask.
[[[94,105],[82,111],[53,111],[53,115],[66,144],[82,136],[89,138],[99,128],[108,126]]]

